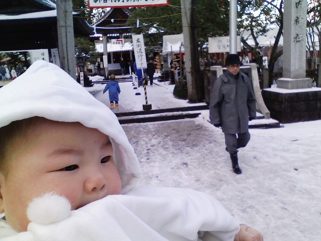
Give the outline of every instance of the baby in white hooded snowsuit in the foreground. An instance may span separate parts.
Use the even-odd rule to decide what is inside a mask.
[[[210,195],[136,187],[117,117],[54,64],[1,88],[0,113],[1,240],[263,240]]]

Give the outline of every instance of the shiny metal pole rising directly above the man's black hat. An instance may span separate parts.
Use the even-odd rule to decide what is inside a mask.
[[[230,54],[237,53],[237,0],[230,0]]]

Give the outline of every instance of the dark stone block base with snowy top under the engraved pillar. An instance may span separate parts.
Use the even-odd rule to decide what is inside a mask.
[[[321,119],[321,88],[304,90],[268,88],[263,89],[262,96],[271,118],[280,123]]]

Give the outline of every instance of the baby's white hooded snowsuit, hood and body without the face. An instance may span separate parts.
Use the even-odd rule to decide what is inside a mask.
[[[16,233],[2,220],[2,241],[233,241],[239,231],[230,213],[208,194],[182,188],[135,187],[141,170],[117,117],[54,64],[36,61],[1,88],[0,112],[0,128],[42,116],[79,122],[108,135],[122,181],[121,195],[106,196],[77,210],[70,210],[66,198],[52,193],[34,199],[28,208],[28,231]],[[48,210],[56,217],[50,217]]]

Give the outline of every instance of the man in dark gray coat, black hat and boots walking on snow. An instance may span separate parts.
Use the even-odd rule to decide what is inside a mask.
[[[210,121],[225,136],[234,173],[241,174],[237,152],[250,141],[248,122],[256,116],[256,99],[249,78],[240,72],[242,65],[237,54],[226,58],[227,71],[214,83],[210,98]]]

